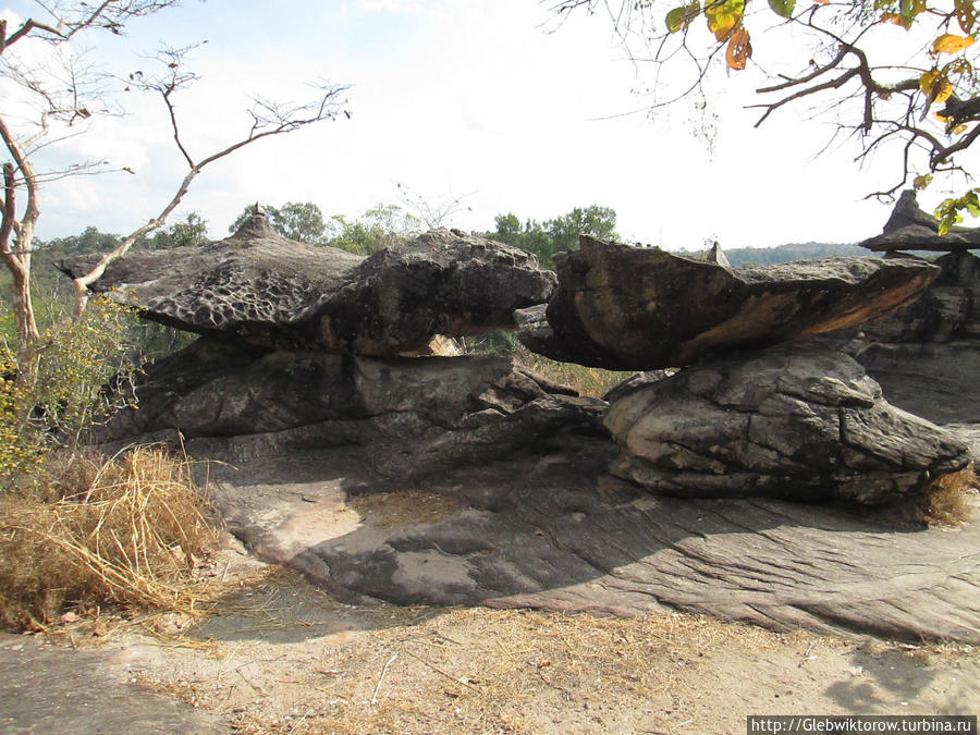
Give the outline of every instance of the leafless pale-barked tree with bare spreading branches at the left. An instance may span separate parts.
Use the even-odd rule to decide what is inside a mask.
[[[179,0],[101,0],[97,3],[63,0],[35,0],[45,20],[27,19],[15,28],[0,21],[0,83],[13,85],[23,105],[16,112],[4,106],[0,111],[0,139],[10,160],[3,163],[3,194],[0,199],[0,257],[13,275],[14,313],[17,326],[17,351],[22,371],[29,368],[34,345],[38,339],[37,322],[30,298],[30,254],[35,228],[40,217],[40,188],[51,179],[91,173],[103,162],[84,161],[60,171],[36,169],[39,150],[64,137],[84,132],[102,114],[115,112],[107,95],[108,75],[87,65],[74,52],[71,41],[83,34],[123,33],[127,22],[176,5]],[[28,39],[47,47],[48,59],[57,69],[41,68],[36,56],[16,53]],[[76,309],[84,308],[88,286],[106,268],[124,255],[143,235],[160,228],[181,204],[192,182],[210,163],[230,156],[264,138],[291,133],[324,120],[335,119],[346,111],[343,98],[346,87],[321,84],[313,99],[299,105],[282,105],[255,99],[248,110],[250,126],[219,150],[194,155],[181,133],[181,121],[174,98],[196,81],[186,69],[189,48],[163,49],[157,60],[162,71],[158,75],[134,73],[127,81],[131,88],[156,95],[162,102],[173,143],[186,163],[186,173],[173,196],[145,224],[136,228],[111,253],[103,255],[93,270],[75,279]],[[350,117],[350,115],[347,115]],[[27,370],[29,372],[29,369]]]

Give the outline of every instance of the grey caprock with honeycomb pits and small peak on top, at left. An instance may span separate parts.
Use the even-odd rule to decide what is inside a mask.
[[[57,265],[74,277],[91,261]],[[261,213],[220,242],[131,253],[93,285],[180,329],[364,355],[513,328],[514,309],[547,301],[553,287],[532,255],[458,231],[433,230],[365,259],[286,240]]]

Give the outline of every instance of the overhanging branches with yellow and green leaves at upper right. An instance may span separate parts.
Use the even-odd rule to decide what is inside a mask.
[[[649,110],[705,97],[709,74],[751,69],[756,126],[791,105],[853,136],[856,161],[884,151],[898,162],[891,186],[869,196],[968,174],[961,154],[980,136],[980,23],[973,0],[555,0],[559,17],[604,15],[638,64],[654,68]],[[754,39],[760,49],[756,53]],[[956,179],[953,179],[955,182]],[[961,181],[961,180],[959,180]],[[960,184],[961,185],[961,184]],[[948,200],[944,226],[980,213],[978,191]]]

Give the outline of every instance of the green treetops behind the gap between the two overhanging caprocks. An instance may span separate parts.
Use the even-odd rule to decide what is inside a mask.
[[[554,268],[555,253],[577,249],[579,235],[603,240],[620,238],[616,234],[615,210],[597,205],[576,207],[571,212],[543,223],[527,220],[522,224],[512,212],[498,215],[493,222],[497,229],[488,232],[488,237],[534,253],[546,268]]]

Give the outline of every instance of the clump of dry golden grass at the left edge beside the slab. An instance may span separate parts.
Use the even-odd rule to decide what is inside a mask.
[[[51,477],[0,493],[0,627],[44,625],[65,604],[193,609],[182,579],[215,534],[186,458],[73,454]]]

